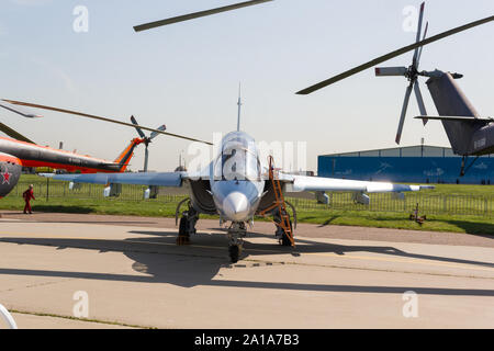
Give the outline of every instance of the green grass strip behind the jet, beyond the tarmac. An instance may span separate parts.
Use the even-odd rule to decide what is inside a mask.
[[[80,190],[68,191],[67,183],[50,180],[46,199],[45,179],[22,176],[18,189],[0,201],[0,208],[22,211],[20,194],[29,183],[35,185],[35,212],[175,217],[177,203],[184,197],[160,195],[158,200],[139,200],[144,186],[124,185],[119,199],[104,199],[103,185],[82,184]],[[332,207],[312,200],[290,201],[296,207],[300,223],[494,235],[494,185],[439,184],[431,191],[408,193],[405,199],[403,202],[389,194],[371,194],[370,207],[355,204],[350,194],[338,193],[333,194]],[[408,219],[417,202],[419,215],[427,215],[423,225]],[[201,218],[217,217],[201,215]]]

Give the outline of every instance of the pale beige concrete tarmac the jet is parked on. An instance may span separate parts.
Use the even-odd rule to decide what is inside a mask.
[[[299,229],[256,223],[229,264],[216,220],[177,246],[175,219],[3,213],[0,304],[20,328],[494,327],[492,237]]]

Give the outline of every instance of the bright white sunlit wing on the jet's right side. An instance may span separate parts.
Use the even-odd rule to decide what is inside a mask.
[[[405,191],[420,191],[434,189],[433,185],[406,185],[389,182],[367,182],[359,180],[292,176],[280,173],[280,181],[291,184],[290,191],[351,191],[364,193],[390,193]]]

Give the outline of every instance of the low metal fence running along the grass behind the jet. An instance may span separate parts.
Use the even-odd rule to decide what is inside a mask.
[[[21,196],[29,183],[20,182],[9,196]],[[144,201],[144,185],[122,185],[119,195],[121,201]],[[34,183],[36,199],[79,199],[103,200],[104,185],[78,184],[70,190],[69,183],[57,181],[42,181]],[[427,215],[470,215],[494,218],[494,195],[448,195],[434,192],[405,193],[405,199],[400,200],[389,193],[369,194],[370,204],[356,203],[351,193],[328,193],[329,204],[319,204],[314,199],[288,197],[297,210],[307,211],[372,211],[412,213],[417,208],[420,214]],[[178,203],[187,197],[186,194],[168,194],[159,192],[157,199],[146,201]]]

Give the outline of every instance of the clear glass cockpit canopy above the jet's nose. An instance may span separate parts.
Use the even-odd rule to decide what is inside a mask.
[[[243,132],[228,133],[214,163],[214,180],[260,180],[260,170],[255,140]]]

